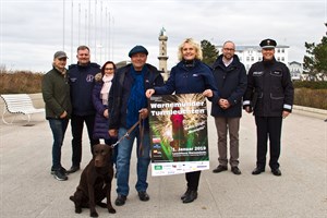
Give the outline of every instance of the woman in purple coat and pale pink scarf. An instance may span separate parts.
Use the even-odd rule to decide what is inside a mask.
[[[113,78],[116,65],[112,61],[107,61],[101,72],[95,76],[95,86],[93,88],[93,105],[97,111],[94,124],[93,137],[94,140],[105,140],[107,145],[111,145],[117,138],[110,137],[109,129],[109,111],[108,98],[111,88],[111,81]]]

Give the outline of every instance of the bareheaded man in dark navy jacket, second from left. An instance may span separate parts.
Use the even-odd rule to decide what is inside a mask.
[[[71,100],[73,106],[71,126],[72,126],[72,167],[69,173],[80,170],[82,160],[82,134],[84,122],[86,123],[90,149],[99,140],[93,140],[93,129],[96,110],[92,101],[92,93],[95,84],[95,75],[99,73],[100,65],[89,61],[89,48],[80,46],[77,48],[77,64],[69,66],[69,77],[71,86]]]

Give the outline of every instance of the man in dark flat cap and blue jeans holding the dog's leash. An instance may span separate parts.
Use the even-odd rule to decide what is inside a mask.
[[[109,134],[122,138],[141,118],[144,131],[136,126],[129,137],[118,145],[117,156],[117,206],[125,204],[129,195],[130,160],[134,140],[137,140],[137,182],[135,189],[141,201],[149,196],[147,190],[147,170],[150,161],[150,142],[148,126],[147,98],[145,90],[164,85],[160,72],[147,64],[148,51],[143,46],[135,46],[129,52],[131,64],[117,70],[109,94]]]

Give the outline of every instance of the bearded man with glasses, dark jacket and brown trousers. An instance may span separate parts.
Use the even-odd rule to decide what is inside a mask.
[[[234,55],[235,45],[226,41],[222,46],[222,55],[213,65],[214,76],[218,86],[220,98],[211,105],[211,116],[218,134],[218,161],[219,166],[213,170],[218,173],[228,169],[227,133],[229,132],[231,171],[241,174],[239,169],[239,129],[242,116],[242,96],[246,89],[246,71],[239,57]]]

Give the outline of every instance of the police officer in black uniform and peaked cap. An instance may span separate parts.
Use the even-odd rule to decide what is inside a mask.
[[[281,175],[279,169],[282,118],[292,111],[294,88],[288,66],[275,59],[274,39],[264,39],[263,61],[254,63],[247,74],[247,88],[243,106],[255,116],[257,133],[256,168],[252,174],[265,171],[267,141],[270,142],[269,167],[272,174]]]

